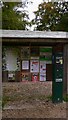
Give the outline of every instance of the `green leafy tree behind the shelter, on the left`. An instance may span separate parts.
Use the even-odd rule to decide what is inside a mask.
[[[28,23],[28,14],[22,2],[4,2],[2,6],[2,29],[25,30]],[[20,11],[19,8],[23,11]]]

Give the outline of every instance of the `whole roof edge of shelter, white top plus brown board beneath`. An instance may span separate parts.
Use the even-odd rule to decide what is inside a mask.
[[[2,42],[68,43],[68,32],[0,30]]]

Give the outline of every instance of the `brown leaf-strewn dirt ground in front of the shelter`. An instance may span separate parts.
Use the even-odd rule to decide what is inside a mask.
[[[66,118],[66,102],[51,100],[52,82],[3,83],[2,118]]]

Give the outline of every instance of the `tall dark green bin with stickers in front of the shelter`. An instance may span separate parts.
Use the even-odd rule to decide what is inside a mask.
[[[53,54],[52,102],[63,101],[63,53]]]

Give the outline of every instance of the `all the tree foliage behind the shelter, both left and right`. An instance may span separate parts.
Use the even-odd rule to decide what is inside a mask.
[[[23,2],[3,2],[2,29],[28,30],[27,26],[35,26],[39,31],[68,32],[68,2],[43,2],[34,11],[35,18],[29,22],[29,13]],[[22,8],[22,10],[19,10]]]

